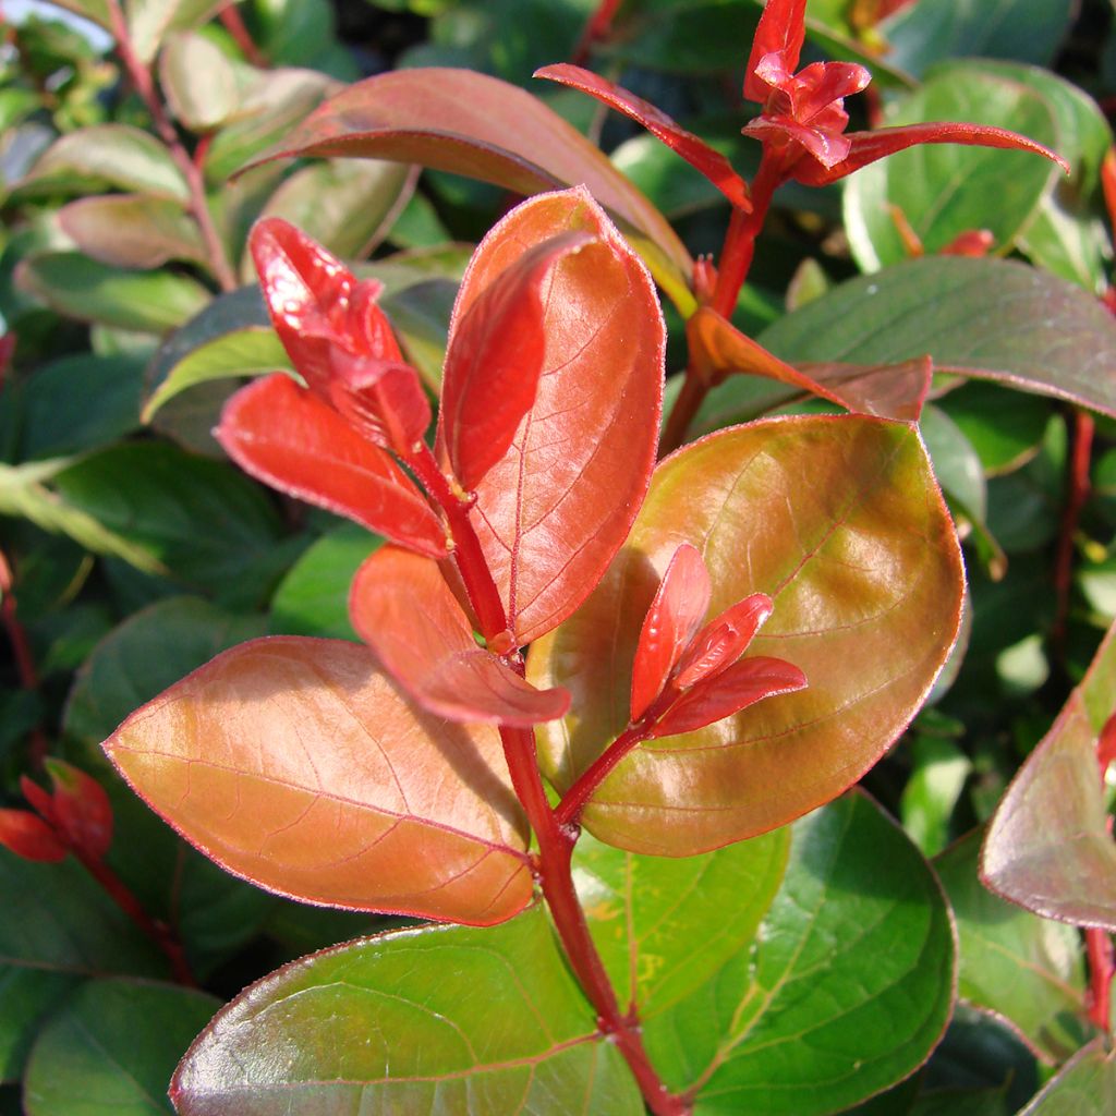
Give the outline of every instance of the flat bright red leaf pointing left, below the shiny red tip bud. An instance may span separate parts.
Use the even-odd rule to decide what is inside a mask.
[[[406,473],[289,376],[268,376],[237,392],[214,436],[264,484],[419,554],[446,555],[445,531]]]

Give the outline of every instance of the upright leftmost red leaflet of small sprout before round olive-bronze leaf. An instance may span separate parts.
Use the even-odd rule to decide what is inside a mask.
[[[662,693],[683,650],[698,632],[711,594],[701,552],[683,542],[658,583],[639,632],[632,670],[632,720],[637,721]]]

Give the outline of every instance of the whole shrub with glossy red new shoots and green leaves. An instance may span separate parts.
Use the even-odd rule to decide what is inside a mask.
[[[927,2],[857,6],[846,57],[885,33],[902,51]],[[586,11],[567,57],[607,64],[638,38],[637,7]],[[68,241],[30,238],[18,282],[98,321],[100,365],[145,364],[144,417],[175,440],[48,441],[54,453],[17,453],[0,485],[9,516],[102,555],[117,596],[154,597],[70,693],[67,732],[87,744],[110,712],[140,706],[103,753],[71,756],[96,778],[50,757],[47,719],[20,712],[30,773],[23,802],[0,809],[0,869],[20,897],[0,954],[13,1006],[0,1065],[26,1062],[26,1110],[163,1110],[192,1039],[170,1081],[181,1114],[1056,1114],[1069,1098],[1105,1112],[1116,644],[1094,638],[1083,657],[1074,641],[1083,593],[1094,627],[1104,615],[1089,516],[1104,519],[1110,481],[1090,454],[1093,414],[1100,437],[1116,414],[1116,327],[1108,234],[1089,206],[1116,202],[1116,164],[1087,98],[1023,67],[945,66],[850,128],[845,98],[872,92],[869,70],[802,65],[807,4],[771,0],[741,50],[758,106],[733,123],[754,148],[745,173],[594,70],[539,70],[567,107],[588,94],[617,109],[728,202],[723,239],[694,258],[617,164],[504,80],[433,67],[338,89],[269,69],[282,37],[261,49],[234,11],[209,37],[190,28],[210,8],[157,27],[145,11],[113,0],[93,15],[158,140],[118,124],[100,135],[119,152],[146,144],[146,177],[125,161],[132,179],[114,180],[78,131],[11,202],[94,191],[59,211]],[[196,90],[202,62],[229,83]],[[945,117],[987,102],[1002,108],[987,123],[929,123],[937,104]],[[506,212],[471,253],[435,240],[345,262],[385,235],[413,247],[433,220],[412,172],[354,155],[485,180]],[[285,177],[279,156],[334,162]],[[223,195],[221,169],[253,157]],[[954,200],[982,160],[1003,195],[992,212]],[[153,169],[171,196],[144,193]],[[779,199],[854,172],[856,262],[895,266],[833,289],[800,269],[796,308],[756,339],[752,264]],[[105,177],[138,192],[96,193]],[[346,232],[369,190],[375,221]],[[1012,249],[1045,270],[988,257]],[[167,259],[180,262],[157,270]],[[251,273],[258,286],[239,288]],[[163,280],[170,301],[137,311],[136,292]],[[658,291],[679,326],[671,349]],[[0,347],[6,367],[36,344],[23,320]],[[164,324],[180,328],[145,348]],[[220,383],[246,375],[231,394]],[[45,378],[0,396],[13,407],[27,392],[6,421],[28,444]],[[966,402],[981,387],[999,394]],[[215,442],[182,408],[212,389]],[[1065,414],[1047,423],[1038,395]],[[1037,433],[994,419],[981,433],[989,400],[1017,398],[1042,408]],[[281,504],[199,453],[231,459]],[[1027,570],[1026,516],[995,518],[985,484],[1017,469],[1028,483],[1004,504],[1067,480],[1040,541],[1070,685],[1052,724],[1018,730],[1030,754],[1001,793],[952,741],[970,660],[988,684],[993,589]],[[325,513],[353,525],[323,539],[344,550],[323,560],[316,543],[295,562],[271,597],[281,634],[263,634],[244,606],[298,552],[277,506],[294,532]],[[174,536],[153,507],[201,538]],[[206,538],[214,523],[247,574]],[[33,573],[0,555],[32,696]],[[152,588],[176,578],[196,593],[208,577],[215,603]],[[335,619],[281,619],[299,594]],[[1024,636],[993,645],[993,684],[1016,694],[1041,685]],[[196,668],[166,676],[184,661]],[[876,764],[913,720],[899,797]],[[902,828],[849,789],[866,776]],[[170,825],[151,825],[140,799]],[[356,914],[330,921],[330,907]],[[333,944],[369,926],[382,932]],[[262,959],[238,952],[261,937]],[[283,961],[224,1007],[196,988],[234,991]],[[985,1076],[951,1070],[963,1058]],[[1050,1067],[1041,1091],[1036,1061]]]

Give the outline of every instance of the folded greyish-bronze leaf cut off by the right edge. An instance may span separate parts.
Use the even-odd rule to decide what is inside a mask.
[[[1047,918],[1116,931],[1116,844],[1097,739],[1114,712],[1116,628],[1000,800],[981,856],[998,895]]]

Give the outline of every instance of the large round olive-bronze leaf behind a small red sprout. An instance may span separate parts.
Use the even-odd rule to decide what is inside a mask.
[[[783,825],[875,763],[945,662],[963,587],[956,537],[912,427],[800,416],[686,446],[660,464],[594,595],[531,647],[528,679],[573,695],[571,715],[538,730],[560,789],[627,723],[639,626],[682,541],[703,554],[714,615],[752,593],[772,599],[751,651],[799,668],[809,689],[650,741],[598,787],[583,815],[595,836],[675,856]]]

